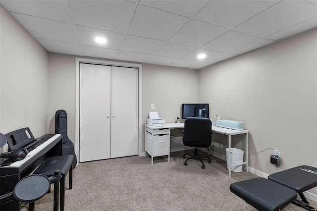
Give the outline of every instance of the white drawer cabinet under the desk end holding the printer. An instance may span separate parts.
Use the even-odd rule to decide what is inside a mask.
[[[155,129],[149,125],[145,126],[145,151],[153,158],[168,156],[169,162],[169,128]]]

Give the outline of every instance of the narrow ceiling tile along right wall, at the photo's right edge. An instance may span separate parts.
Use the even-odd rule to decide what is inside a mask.
[[[265,37],[266,39],[271,39],[271,40],[280,40],[285,37],[289,37],[295,34],[298,34],[300,32],[304,32],[313,28],[317,27],[317,17],[311,18],[309,20],[306,20],[300,24],[296,24],[294,26],[291,26],[287,29],[284,29],[282,31],[276,32],[272,35],[269,35]]]

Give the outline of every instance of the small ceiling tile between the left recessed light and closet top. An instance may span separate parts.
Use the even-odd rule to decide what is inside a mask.
[[[92,46],[83,46],[85,56],[116,59],[119,51],[112,49],[104,49]]]

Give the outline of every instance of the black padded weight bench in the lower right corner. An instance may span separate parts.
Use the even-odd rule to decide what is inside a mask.
[[[293,203],[309,211],[304,192],[317,186],[317,168],[301,165],[270,174],[267,179],[255,178],[232,183],[230,191],[259,211],[280,211]],[[297,194],[301,200],[297,199]]]

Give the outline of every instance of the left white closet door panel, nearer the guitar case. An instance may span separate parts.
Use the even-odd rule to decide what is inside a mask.
[[[80,64],[79,162],[110,158],[111,67]]]

